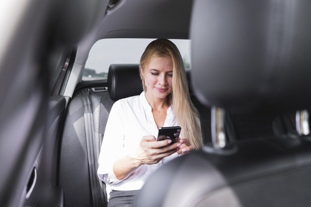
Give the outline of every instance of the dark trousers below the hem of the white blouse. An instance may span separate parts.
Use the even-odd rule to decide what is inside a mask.
[[[114,191],[110,192],[108,207],[132,207],[134,196],[137,191]]]

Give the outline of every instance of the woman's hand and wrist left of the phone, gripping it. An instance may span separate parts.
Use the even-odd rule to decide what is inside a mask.
[[[155,136],[142,138],[133,156],[140,161],[140,164],[156,164],[164,157],[177,151],[177,143],[170,144],[170,139],[157,141]]]

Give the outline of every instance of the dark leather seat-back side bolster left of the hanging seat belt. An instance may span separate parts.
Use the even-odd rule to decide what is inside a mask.
[[[64,207],[92,206],[81,99],[73,97],[63,125],[59,147],[58,186],[64,190]]]

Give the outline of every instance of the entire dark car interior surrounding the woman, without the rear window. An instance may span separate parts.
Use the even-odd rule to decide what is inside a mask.
[[[310,207],[310,6],[0,2],[0,206],[107,206],[97,160],[109,112],[143,86],[139,62],[82,80],[90,50],[167,38],[191,40],[188,88],[205,145],[157,170],[134,207]]]

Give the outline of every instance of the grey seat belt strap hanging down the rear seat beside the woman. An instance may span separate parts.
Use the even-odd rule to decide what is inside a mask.
[[[98,156],[100,149],[99,140],[95,138],[91,97],[87,88],[81,89],[79,94],[84,112],[86,151],[93,207],[105,207],[106,202],[103,195],[103,184],[97,176]]]

